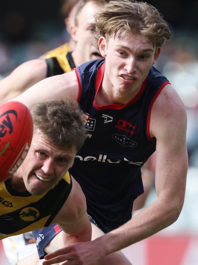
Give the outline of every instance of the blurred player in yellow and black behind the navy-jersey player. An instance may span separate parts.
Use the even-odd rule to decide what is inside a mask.
[[[1,79],[0,103],[18,96],[46,77],[69,72],[86,61],[102,58],[92,45],[95,32],[94,14],[107,2],[107,0],[73,1],[69,15],[65,19],[72,41],[69,45],[66,43],[48,52],[45,59],[39,58],[19,65],[10,75]],[[75,25],[72,24],[74,13]],[[73,42],[76,43],[74,50]]]

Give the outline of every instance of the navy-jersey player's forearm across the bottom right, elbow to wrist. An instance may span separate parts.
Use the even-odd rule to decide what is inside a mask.
[[[92,242],[95,248],[99,248],[103,256],[106,256],[143,240],[171,225],[178,218],[180,211],[181,209],[172,205],[164,207],[163,201],[158,199],[123,226]]]

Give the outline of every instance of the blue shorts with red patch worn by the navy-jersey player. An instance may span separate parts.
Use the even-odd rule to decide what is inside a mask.
[[[90,215],[88,216],[90,222],[97,226],[95,220]],[[52,238],[54,238],[61,231],[62,229],[58,224],[51,224],[47,227],[32,231],[32,234],[36,240],[38,256],[40,259],[43,259],[44,256],[47,255],[47,253],[44,251],[44,248],[48,245]]]

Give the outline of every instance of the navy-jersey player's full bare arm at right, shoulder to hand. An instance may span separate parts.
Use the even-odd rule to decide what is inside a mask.
[[[157,233],[179,217],[184,201],[188,167],[186,111],[170,85],[162,90],[153,105],[150,134],[157,139],[155,171],[157,201],[123,226],[104,236],[91,242],[77,243],[78,254],[84,256],[84,263],[80,264],[96,264],[102,257]],[[57,256],[56,259],[59,261],[67,260],[70,253],[64,253],[69,251],[72,252],[72,245],[50,254],[46,259]],[[43,264],[53,263],[45,261]]]

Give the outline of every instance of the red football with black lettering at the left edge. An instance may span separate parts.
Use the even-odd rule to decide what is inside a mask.
[[[16,101],[0,105],[0,182],[12,175],[25,159],[33,134],[29,109]]]

